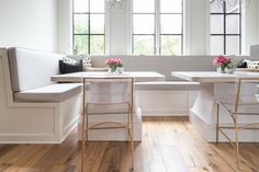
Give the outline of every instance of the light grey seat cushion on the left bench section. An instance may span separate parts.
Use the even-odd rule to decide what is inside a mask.
[[[63,102],[81,92],[80,83],[56,83],[14,93],[18,102]]]

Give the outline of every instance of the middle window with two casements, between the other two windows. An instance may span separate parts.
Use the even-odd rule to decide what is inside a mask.
[[[182,0],[133,0],[132,54],[181,55]]]

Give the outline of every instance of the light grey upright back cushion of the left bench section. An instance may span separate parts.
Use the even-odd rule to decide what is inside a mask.
[[[23,48],[9,48],[9,65],[14,92],[36,89],[53,83],[50,77],[59,73],[63,55]]]

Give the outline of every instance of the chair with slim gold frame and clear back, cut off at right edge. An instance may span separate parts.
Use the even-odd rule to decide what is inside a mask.
[[[239,131],[244,129],[259,129],[259,123],[250,123],[250,124],[239,124],[238,123],[238,116],[240,115],[246,115],[247,117],[251,117],[255,115],[259,115],[258,111],[251,111],[251,112],[241,112],[240,107],[259,107],[259,102],[256,101],[256,83],[259,83],[259,79],[254,79],[254,78],[239,78],[237,79],[236,88],[235,88],[235,96],[233,102],[227,102],[223,100],[217,100],[216,101],[216,142],[218,142],[218,134],[221,133],[236,150],[236,161],[237,161],[237,169],[240,169],[239,165]],[[247,96],[244,98],[244,92],[241,91],[244,89],[244,85],[250,84],[250,87],[255,85],[255,93],[249,93],[250,99]],[[225,95],[227,96],[227,95]],[[233,125],[226,126],[226,125],[221,125],[219,124],[219,110],[223,110],[225,114],[228,114],[232,118]],[[258,110],[258,108],[257,108]],[[222,113],[223,114],[223,113]],[[229,135],[227,135],[226,130],[228,129],[234,129],[235,130],[235,139],[230,139]]]

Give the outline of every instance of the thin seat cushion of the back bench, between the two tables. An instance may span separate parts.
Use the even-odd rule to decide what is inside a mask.
[[[187,81],[154,81],[154,82],[137,82],[136,90],[199,90],[199,82]]]

